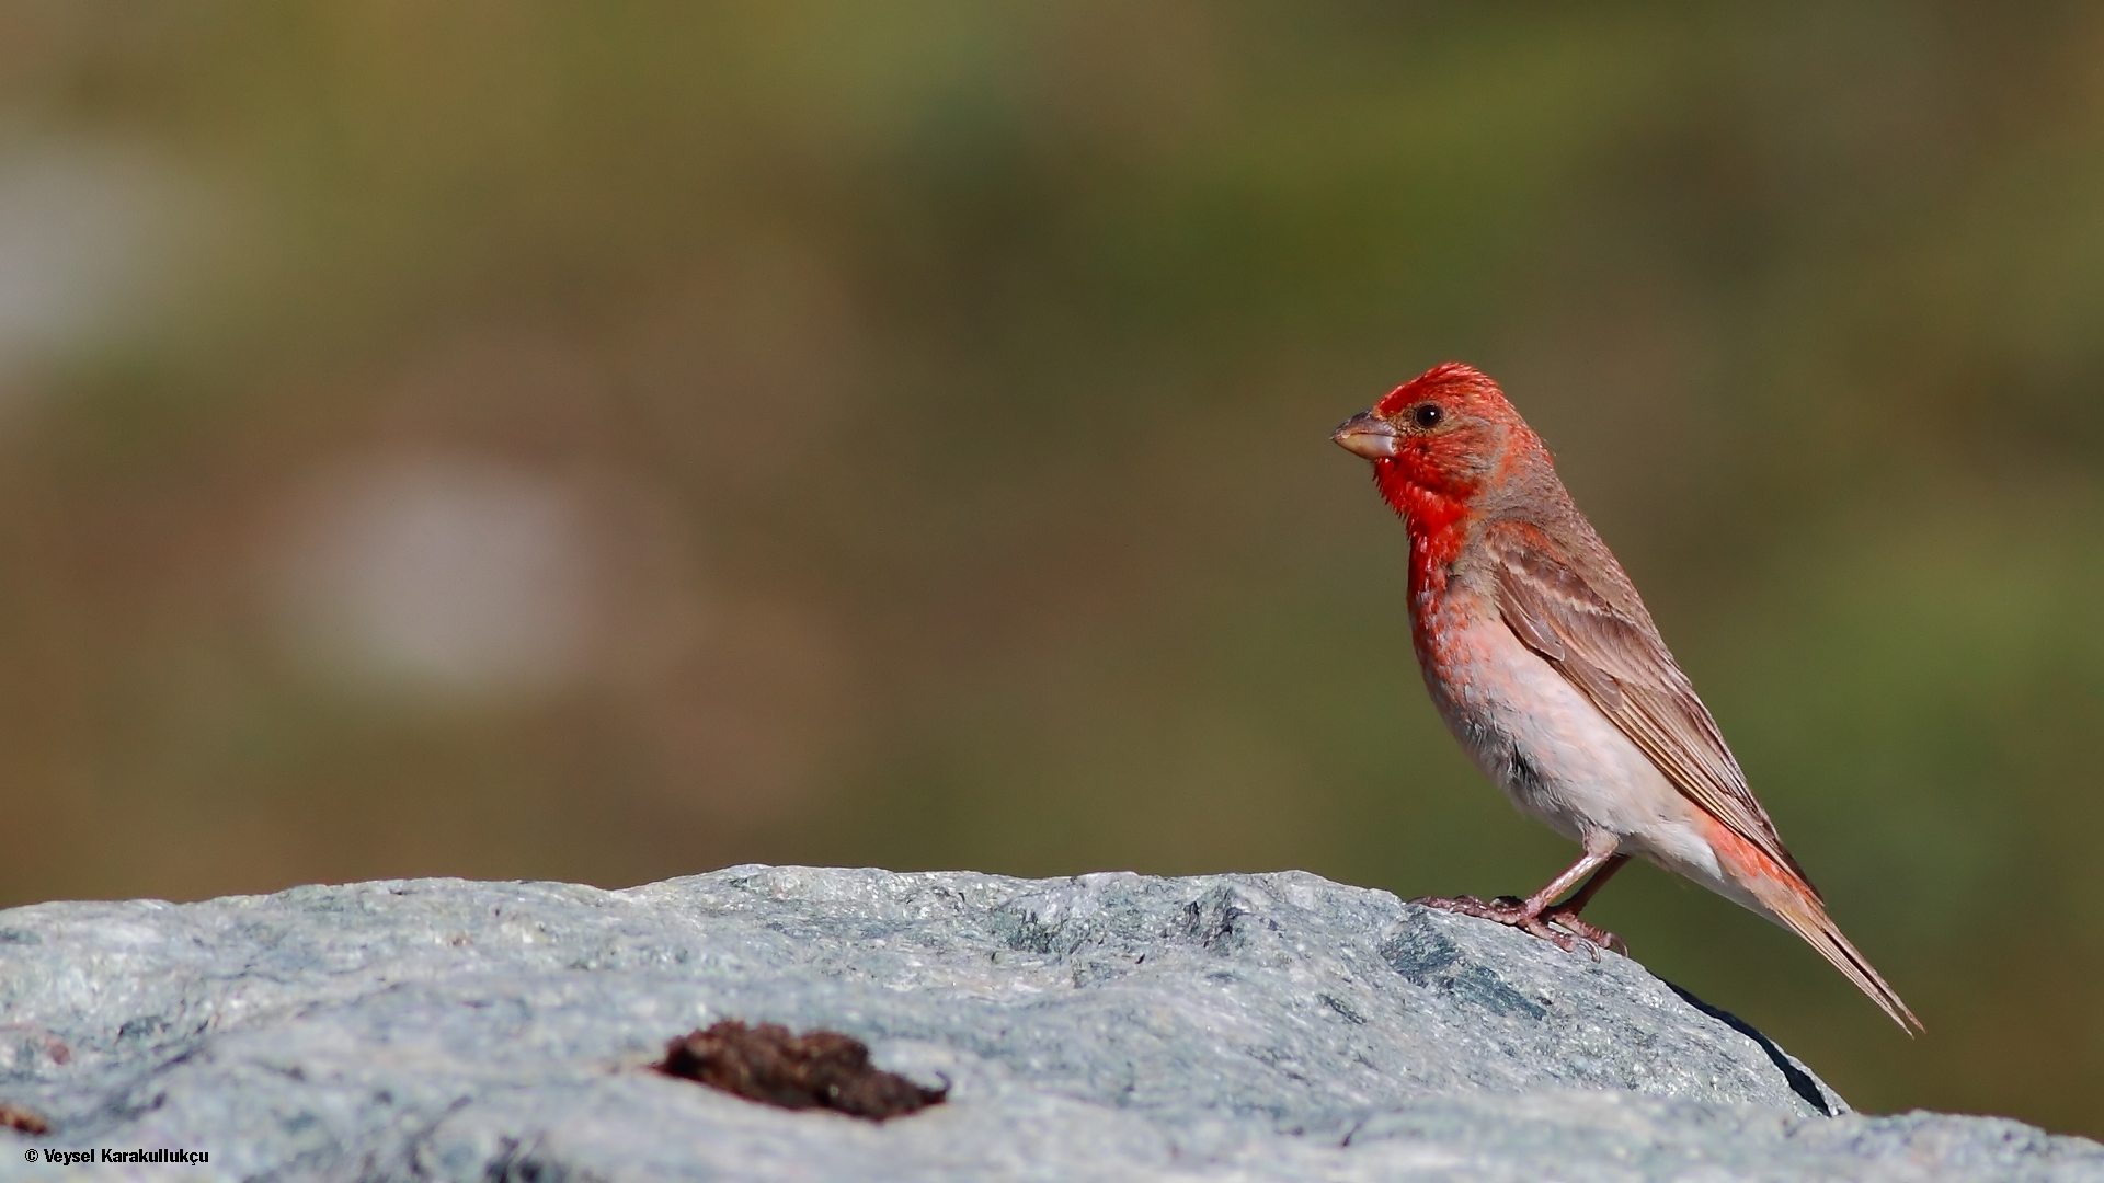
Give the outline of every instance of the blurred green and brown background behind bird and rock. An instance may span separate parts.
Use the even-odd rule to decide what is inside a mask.
[[[1572,850],[1330,429],[1498,377],[1929,1025],[2104,1135],[2104,8],[11,4],[0,903]]]

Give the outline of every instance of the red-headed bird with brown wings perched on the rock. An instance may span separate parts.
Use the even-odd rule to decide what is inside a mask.
[[[1826,916],[1637,587],[1496,381],[1443,362],[1332,440],[1372,461],[1403,518],[1410,640],[1439,716],[1523,815],[1584,850],[1525,899],[1416,903],[1565,951],[1626,954],[1580,911],[1635,855],[1797,933],[1902,1031],[1925,1029]]]

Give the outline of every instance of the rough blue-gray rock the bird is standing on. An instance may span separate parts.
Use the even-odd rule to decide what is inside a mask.
[[[2104,1179],[2104,1147],[1864,1118],[1605,954],[1307,874],[734,867],[0,911],[0,1181]],[[648,1069],[715,1019],[949,1082],[888,1124]],[[179,1175],[170,1175],[179,1172]]]

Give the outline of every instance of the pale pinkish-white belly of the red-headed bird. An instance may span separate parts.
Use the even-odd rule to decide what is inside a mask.
[[[1445,636],[1424,682],[1462,747],[1521,813],[1589,850],[1620,846],[1740,895],[1704,840],[1698,806],[1504,621],[1469,621]]]

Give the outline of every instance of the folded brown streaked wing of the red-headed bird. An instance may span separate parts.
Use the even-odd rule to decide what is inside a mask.
[[[1614,606],[1538,526],[1494,522],[1483,549],[1513,634],[1584,690],[1679,791],[1812,888],[1643,608]],[[1626,600],[1635,604],[1633,589]]]

